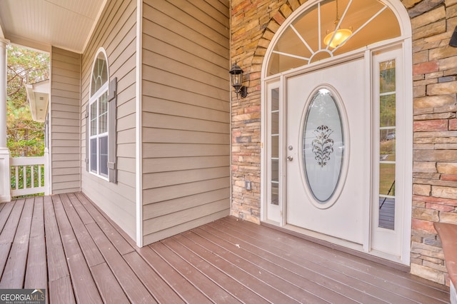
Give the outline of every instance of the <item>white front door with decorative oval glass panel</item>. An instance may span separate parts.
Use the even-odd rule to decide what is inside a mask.
[[[371,202],[365,68],[362,57],[286,81],[286,223],[357,244]]]

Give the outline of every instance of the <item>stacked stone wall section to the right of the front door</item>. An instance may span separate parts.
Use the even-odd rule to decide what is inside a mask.
[[[403,1],[413,28],[411,273],[448,285],[434,222],[457,223],[457,0]]]

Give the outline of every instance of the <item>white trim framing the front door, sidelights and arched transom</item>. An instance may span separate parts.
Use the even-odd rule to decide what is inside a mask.
[[[278,39],[281,38],[283,35],[284,31],[288,29],[289,26],[293,23],[293,21],[296,20],[298,16],[303,14],[304,11],[310,9],[312,6],[316,4],[320,4],[324,0],[310,0],[306,1],[305,4],[300,6],[296,11],[293,11],[293,13],[288,16],[286,21],[279,27],[278,31],[276,31],[276,34],[273,36],[273,39],[271,39],[270,44],[268,45],[268,48],[266,50],[266,54],[263,58],[263,64],[262,64],[262,69],[261,69],[261,221],[266,221],[266,222],[271,222],[268,221],[268,210],[267,210],[267,203],[268,200],[268,174],[266,171],[266,168],[268,168],[268,107],[266,106],[266,102],[268,102],[268,92],[266,90],[268,89],[268,83],[272,83],[274,81],[281,81],[284,77],[289,77],[289,76],[295,76],[298,74],[302,74],[304,72],[309,72],[309,71],[315,71],[317,69],[323,69],[325,67],[331,66],[333,64],[339,64],[344,61],[348,61],[350,59],[355,59],[357,57],[368,56],[368,64],[366,64],[366,70],[364,73],[366,74],[366,81],[367,84],[371,86],[371,56],[373,52],[377,51],[378,49],[388,49],[389,46],[394,46],[398,44],[402,44],[403,46],[403,68],[404,68],[404,75],[403,75],[403,81],[404,81],[404,100],[405,100],[405,106],[406,108],[404,109],[405,117],[406,119],[402,122],[404,123],[404,128],[406,138],[406,144],[405,144],[405,151],[404,151],[404,175],[403,175],[403,197],[401,198],[403,200],[403,227],[402,227],[402,235],[401,235],[401,256],[399,257],[398,260],[396,260],[399,263],[409,265],[410,263],[410,241],[411,241],[411,210],[412,210],[412,166],[413,166],[413,144],[412,144],[412,134],[413,134],[413,79],[412,79],[412,42],[411,42],[411,35],[412,35],[412,29],[411,29],[411,20],[408,16],[408,12],[406,11],[405,7],[403,4],[401,4],[400,1],[396,0],[381,0],[383,4],[388,6],[389,9],[393,12],[393,14],[396,16],[398,20],[398,24],[400,26],[400,31],[401,31],[401,36],[398,36],[393,39],[388,39],[386,41],[380,41],[377,43],[373,43],[369,46],[366,46],[361,49],[356,49],[350,52],[347,52],[346,54],[341,54],[338,55],[337,58],[335,59],[328,59],[326,61],[321,61],[321,62],[316,62],[316,63],[311,63],[306,65],[305,68],[303,66],[298,67],[296,69],[291,69],[288,71],[283,71],[281,73],[268,76],[268,65],[269,61],[271,59],[271,56],[273,53],[278,53],[276,51],[273,51],[273,47],[276,45],[278,42]],[[302,39],[303,40],[303,39]],[[306,44],[305,44],[306,46]],[[367,59],[367,58],[366,58]],[[280,90],[283,91],[282,94],[284,96],[285,91],[286,91],[286,86],[281,81],[281,86]],[[371,98],[371,89],[368,88],[366,92],[364,93],[366,98],[370,99]],[[366,120],[371,120],[371,116],[373,116],[373,109],[371,108],[371,104],[366,105],[367,108],[364,109],[364,112],[367,113],[367,116],[364,118]],[[286,106],[283,107],[283,111],[286,111]],[[372,128],[372,126],[371,126]],[[373,131],[373,130],[371,130]],[[366,140],[368,142],[371,142],[371,133],[372,132],[367,132],[367,138]],[[369,149],[372,149],[372,145],[369,145]],[[285,147],[282,147],[285,148]],[[367,155],[370,156],[366,160],[365,166],[373,166],[373,159],[372,159],[372,151],[366,151]],[[408,163],[406,163],[408,161]],[[372,172],[371,168],[371,172]],[[285,176],[285,172],[283,172]],[[372,184],[372,176],[371,174],[368,174],[368,176],[365,176],[368,178],[370,181],[370,185]],[[280,177],[280,178],[283,178]],[[283,183],[285,185],[285,181]],[[366,193],[368,196],[371,198],[371,187],[368,187],[366,189]],[[285,200],[285,196],[283,197]],[[370,251],[371,250],[371,208],[372,206],[368,206],[363,210],[363,214],[369,214],[369,216],[365,216],[363,227],[366,228],[366,232],[363,234],[363,248],[360,248],[358,250],[363,250],[363,251]],[[286,206],[283,206],[282,210],[283,214],[286,212]],[[282,223],[279,223],[279,226],[284,226],[284,216],[282,217]],[[278,225],[278,223],[273,223]],[[378,253],[376,251],[371,251],[371,254],[373,255],[382,255],[384,258],[389,258],[392,259],[391,256],[386,257],[384,256],[383,253]]]

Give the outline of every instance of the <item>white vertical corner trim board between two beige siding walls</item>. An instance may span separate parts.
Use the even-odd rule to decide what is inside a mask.
[[[142,153],[141,153],[141,56],[143,31],[143,0],[136,0],[136,245],[143,247],[143,183],[142,183]]]

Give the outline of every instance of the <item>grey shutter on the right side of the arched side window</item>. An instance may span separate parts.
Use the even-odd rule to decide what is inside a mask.
[[[117,109],[117,78],[109,83],[108,91],[108,179],[110,183],[117,183],[117,149],[116,149],[116,116]]]

